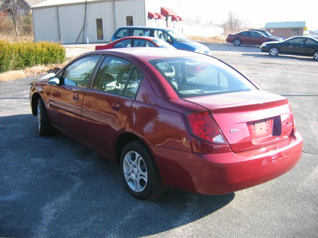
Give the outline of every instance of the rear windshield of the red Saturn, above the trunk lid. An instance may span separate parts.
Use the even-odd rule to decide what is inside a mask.
[[[181,98],[257,90],[238,71],[213,58],[149,60]]]

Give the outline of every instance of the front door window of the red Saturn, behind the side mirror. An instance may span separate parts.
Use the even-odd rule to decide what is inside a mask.
[[[99,58],[85,57],[68,66],[63,73],[64,85],[86,88]]]

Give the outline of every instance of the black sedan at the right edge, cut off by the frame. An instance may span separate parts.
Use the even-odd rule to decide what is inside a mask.
[[[264,43],[260,46],[261,52],[270,56],[295,55],[310,56],[318,60],[318,40],[305,36],[294,36],[284,41]]]

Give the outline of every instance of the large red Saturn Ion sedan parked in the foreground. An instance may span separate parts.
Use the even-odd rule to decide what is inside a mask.
[[[41,135],[55,128],[118,162],[139,199],[164,186],[238,191],[286,173],[302,154],[286,98],[197,53],[90,52],[34,82],[30,103]]]

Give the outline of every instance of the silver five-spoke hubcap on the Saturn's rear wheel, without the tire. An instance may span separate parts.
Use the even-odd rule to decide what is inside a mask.
[[[136,151],[129,151],[124,158],[123,171],[128,186],[135,192],[145,190],[148,171],[143,157]]]

